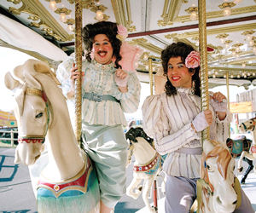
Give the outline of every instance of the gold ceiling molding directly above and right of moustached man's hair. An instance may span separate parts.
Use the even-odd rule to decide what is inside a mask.
[[[124,0],[111,0],[111,3],[116,22],[125,26],[128,32],[136,31],[136,26],[131,25],[133,21],[131,20],[130,0],[125,0],[125,3]]]

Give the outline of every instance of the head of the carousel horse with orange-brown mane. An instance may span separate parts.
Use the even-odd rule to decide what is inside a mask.
[[[205,141],[201,162],[201,178],[207,197],[212,196],[214,212],[233,212],[237,195],[234,189],[235,160],[229,150],[218,141]],[[207,206],[207,204],[205,204]]]

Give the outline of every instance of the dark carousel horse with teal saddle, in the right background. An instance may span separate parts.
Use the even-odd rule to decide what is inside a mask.
[[[243,151],[249,152],[250,147],[252,145],[252,140],[247,139],[246,136],[242,135],[240,138],[237,138],[236,140],[228,138],[226,141],[227,147],[230,149],[230,153],[233,158],[239,158],[241,156],[241,153]],[[245,173],[241,177],[241,183],[244,184],[248,174],[251,170],[253,170],[253,160],[250,160],[248,158],[242,158],[243,161],[247,162],[248,167]]]

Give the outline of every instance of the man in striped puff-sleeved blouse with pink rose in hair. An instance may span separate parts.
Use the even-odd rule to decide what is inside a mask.
[[[158,153],[167,154],[166,213],[189,212],[200,178],[201,131],[210,126],[210,138],[226,141],[231,120],[226,97],[211,94],[210,107],[201,112],[200,55],[186,43],[172,43],[161,53],[167,77],[165,92],[143,103],[143,130],[154,138]],[[254,212],[242,192],[235,212]]]

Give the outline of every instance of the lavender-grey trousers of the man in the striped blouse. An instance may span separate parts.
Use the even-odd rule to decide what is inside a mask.
[[[167,176],[166,213],[188,213],[196,199],[196,181],[198,178]],[[182,204],[181,204],[182,201]],[[241,189],[241,205],[234,212],[254,213],[253,206]]]

